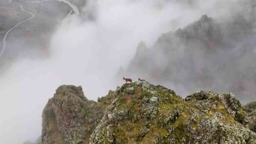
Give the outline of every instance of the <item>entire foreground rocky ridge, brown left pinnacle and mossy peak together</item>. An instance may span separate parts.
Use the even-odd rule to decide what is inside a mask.
[[[145,81],[117,87],[98,102],[81,86],[62,85],[43,110],[41,143],[255,144],[246,114],[255,108],[243,108],[232,93],[199,91],[184,100]]]

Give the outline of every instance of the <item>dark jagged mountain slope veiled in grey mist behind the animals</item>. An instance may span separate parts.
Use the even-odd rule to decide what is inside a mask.
[[[130,65],[117,77],[134,76],[176,86],[178,93],[213,90],[246,97],[256,95],[256,3],[225,18],[202,15],[184,28],[162,34],[153,46],[140,42]]]

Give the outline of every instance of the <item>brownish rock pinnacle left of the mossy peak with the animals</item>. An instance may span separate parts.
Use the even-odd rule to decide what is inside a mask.
[[[96,103],[84,96],[81,86],[60,86],[43,110],[42,144],[88,143],[114,98],[115,91],[110,91]]]

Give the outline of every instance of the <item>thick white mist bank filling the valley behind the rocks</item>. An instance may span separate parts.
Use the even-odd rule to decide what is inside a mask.
[[[120,66],[127,67],[140,41],[150,47],[162,33],[183,28],[203,14],[228,17],[237,7],[233,4],[234,0],[89,1],[83,11],[94,18],[72,15],[61,21],[51,35],[47,58],[30,57],[34,51],[28,52],[0,75],[0,143],[37,139],[42,110],[59,85],[81,85],[88,99],[97,100],[124,83],[122,77],[113,77]]]

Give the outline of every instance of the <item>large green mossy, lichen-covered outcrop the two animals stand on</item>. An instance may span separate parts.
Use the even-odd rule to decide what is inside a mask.
[[[256,134],[233,94],[199,91],[183,100],[147,82],[124,84],[90,137],[90,144],[255,144]]]

